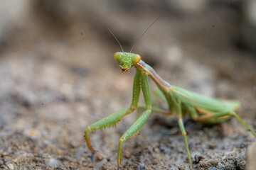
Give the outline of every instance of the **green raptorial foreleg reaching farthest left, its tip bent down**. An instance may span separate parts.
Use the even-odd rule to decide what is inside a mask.
[[[98,130],[102,128],[107,128],[112,125],[115,125],[119,120],[121,120],[124,115],[128,115],[129,113],[132,113],[138,105],[139,101],[139,93],[140,93],[140,75],[135,74],[134,76],[134,85],[133,85],[133,92],[132,92],[132,104],[129,108],[121,108],[120,110],[112,113],[111,115],[108,115],[106,118],[103,118],[101,120],[98,120],[95,123],[92,123],[92,125],[88,126],[85,129],[85,140],[87,142],[88,148],[95,152],[94,149],[92,149],[92,145],[90,145],[90,139],[88,136],[88,132],[92,132],[93,130]]]

